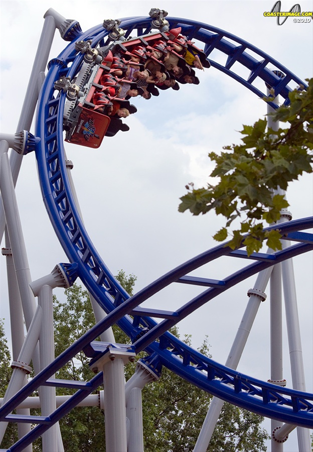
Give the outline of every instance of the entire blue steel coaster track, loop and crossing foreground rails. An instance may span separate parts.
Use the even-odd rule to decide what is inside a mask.
[[[190,40],[204,43],[204,51],[212,67],[231,76],[261,98],[266,94],[253,84],[255,81],[261,80],[272,86],[274,95],[282,96],[286,104],[288,93],[295,85],[305,87],[302,80],[277,61],[225,31],[186,19],[167,19],[171,28],[182,27],[182,33]],[[151,19],[142,17],[122,19],[120,27],[126,30],[126,37],[134,34],[141,36],[151,30]],[[40,436],[52,423],[57,422],[102,383],[101,373],[90,382],[64,382],[53,380],[51,376],[81,350],[93,360],[97,360],[104,353],[106,345],[101,347],[98,342],[93,341],[115,322],[130,337],[131,348],[136,353],[145,350],[151,356],[151,363],[156,360],[159,366],[168,367],[203,390],[239,407],[282,422],[311,427],[313,423],[311,394],[277,387],[228,369],[201,355],[168,332],[169,328],[191,312],[240,281],[285,259],[311,251],[312,235],[301,232],[313,227],[311,217],[289,221],[279,226],[284,238],[292,242],[292,245],[283,251],[273,254],[255,253],[248,258],[244,250],[232,251],[227,244],[219,245],[168,272],[132,297],[129,297],[115,280],[88,237],[67,177],[63,146],[65,93],[56,91],[54,84],[64,76],[73,79],[79,71],[83,56],[75,50],[77,40],[91,39],[92,46],[96,47],[98,43],[100,45],[106,43],[107,34],[102,26],[94,27],[85,33],[77,31],[73,41],[49,63],[38,106],[36,136],[40,137],[41,141],[36,156],[43,199],[55,233],[69,262],[77,266],[77,275],[108,315],[40,372],[16,394],[14,400],[0,409],[1,420],[30,421],[9,413],[39,386],[77,388],[76,394],[49,417],[31,416],[31,421],[38,425],[9,450],[22,450],[26,444]],[[227,56],[224,66],[210,57],[213,50]],[[247,79],[234,71],[235,62],[249,69]],[[285,77],[280,79],[272,72],[273,69],[283,72]],[[271,102],[271,105],[277,107],[274,102]],[[248,265],[222,280],[188,276],[193,270],[222,256],[247,259]],[[149,297],[174,282],[204,286],[205,290],[175,312],[145,309],[140,306]],[[151,317],[163,320],[158,323]]]

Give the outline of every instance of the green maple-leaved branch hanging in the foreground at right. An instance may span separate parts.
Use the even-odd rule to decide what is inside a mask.
[[[230,234],[232,249],[243,243],[250,255],[260,250],[264,240],[273,250],[281,249],[279,231],[263,232],[263,221],[276,222],[281,209],[288,206],[284,196],[274,190],[286,190],[303,172],[312,172],[313,79],[307,81],[307,90],[290,92],[290,105],[282,105],[271,114],[274,121],[289,123],[289,127],[265,131],[266,119],[243,126],[242,144],[225,146],[226,152],[220,155],[209,153],[216,163],[210,176],[218,178],[217,184],[195,188],[189,183],[188,193],[180,198],[180,212],[190,210],[199,215],[215,210],[223,215],[226,225],[214,239],[224,241]],[[241,220],[240,229],[231,232],[230,225],[236,218]]]

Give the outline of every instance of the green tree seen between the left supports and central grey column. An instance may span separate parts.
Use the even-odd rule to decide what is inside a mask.
[[[86,290],[76,284],[65,290],[66,302],[54,299],[55,355],[58,356],[94,325],[94,316]],[[81,351],[69,361],[56,378],[87,381],[94,377],[88,358]],[[99,388],[103,389],[103,388]],[[76,391],[57,388],[57,395]],[[87,452],[102,450],[105,443],[104,417],[98,407],[78,407],[60,420],[64,450]]]

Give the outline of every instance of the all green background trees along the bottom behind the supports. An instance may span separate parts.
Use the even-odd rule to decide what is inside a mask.
[[[128,286],[130,294],[135,277],[119,272],[117,279]],[[94,325],[88,292],[74,284],[65,290],[66,301],[54,300],[56,356]],[[116,326],[113,327],[117,343],[129,343],[129,338]],[[171,332],[178,334],[176,327]],[[191,336],[184,341],[191,344]],[[199,351],[209,356],[209,345],[205,338]],[[136,360],[145,356],[141,352]],[[9,360],[10,361],[10,360]],[[6,367],[9,366],[6,361]],[[136,363],[125,367],[125,378],[130,378]],[[0,368],[1,370],[1,368]],[[56,378],[87,380],[93,377],[88,360],[78,354],[56,375]],[[102,388],[99,388],[102,389]],[[57,394],[72,394],[74,390],[59,389]],[[202,422],[212,396],[193,386],[179,376],[163,368],[158,382],[143,389],[144,450],[146,452],[188,452],[193,450]],[[39,413],[36,413],[39,414]],[[67,452],[90,452],[105,449],[104,413],[98,407],[77,407],[60,421],[60,428]],[[209,451],[236,452],[266,450],[267,433],[261,428],[262,417],[241,410],[233,405],[224,405],[222,415],[211,440]],[[12,441],[3,446],[9,446]],[[40,441],[33,450],[41,450]]]

